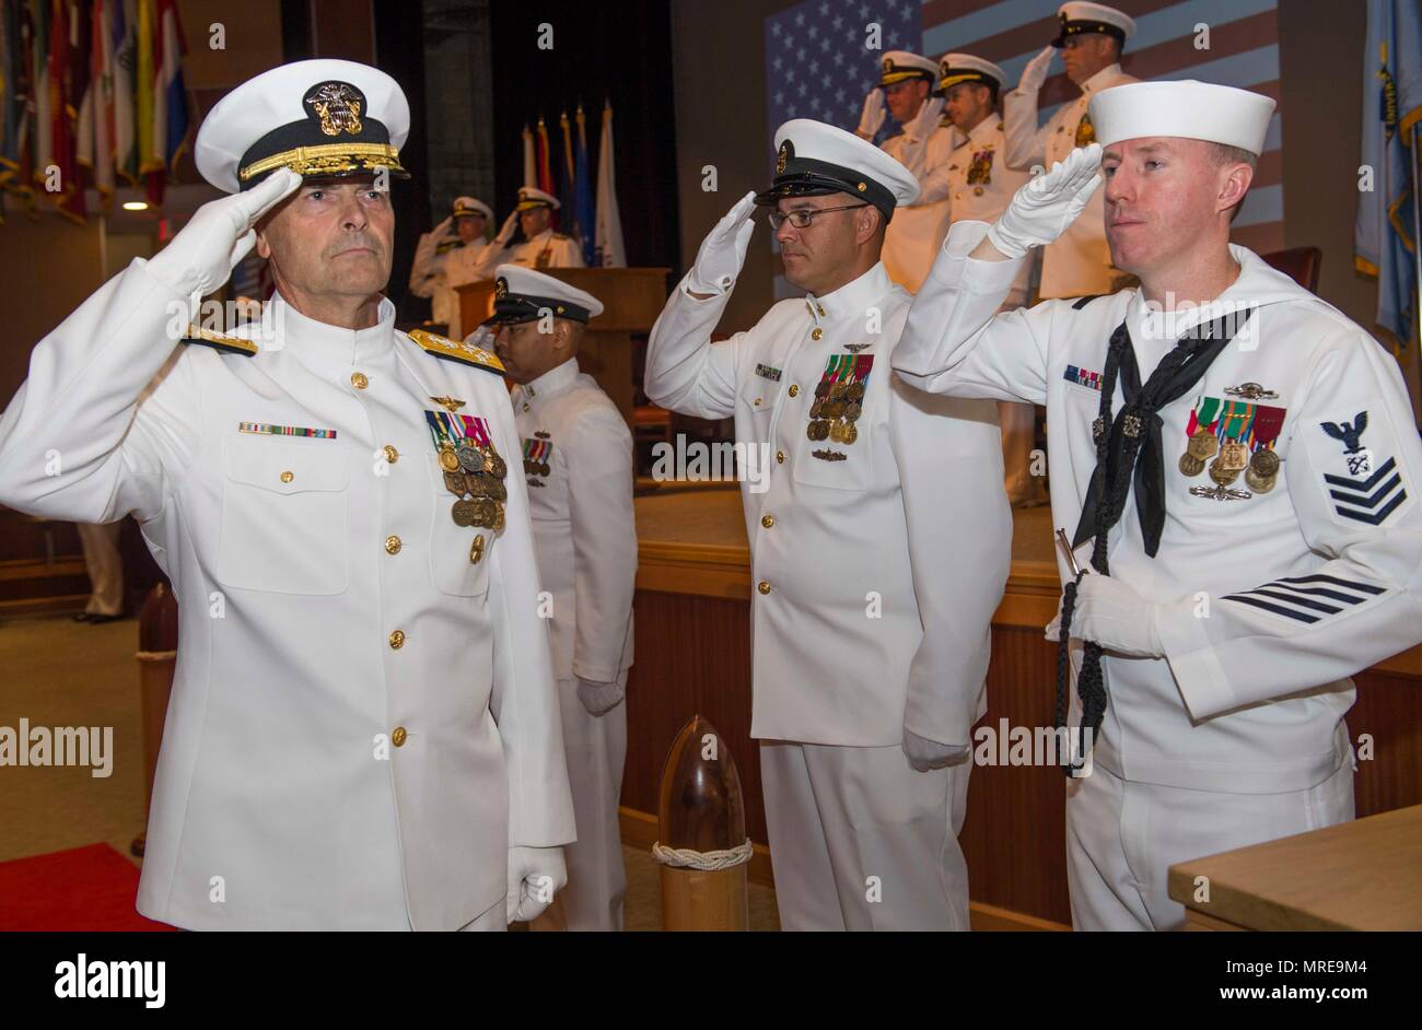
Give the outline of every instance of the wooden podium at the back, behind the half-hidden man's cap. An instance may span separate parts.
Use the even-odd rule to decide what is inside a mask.
[[[577,352],[582,371],[617,405],[631,425],[631,337],[650,332],[667,303],[670,269],[539,269],[572,287],[586,290],[603,303],[603,313],[593,318]],[[459,324],[472,327],[493,313],[493,280],[466,283],[459,294]]]

